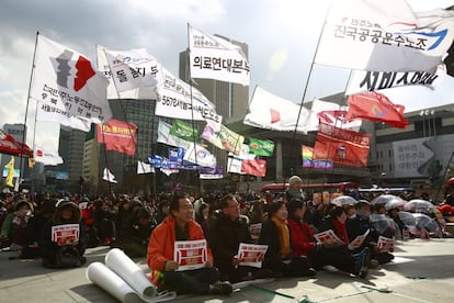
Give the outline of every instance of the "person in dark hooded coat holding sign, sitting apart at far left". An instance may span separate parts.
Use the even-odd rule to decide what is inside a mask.
[[[47,268],[80,267],[87,262],[86,233],[79,206],[59,200],[57,210],[43,229],[38,245],[43,266]]]

